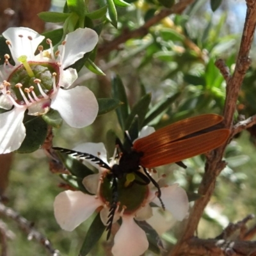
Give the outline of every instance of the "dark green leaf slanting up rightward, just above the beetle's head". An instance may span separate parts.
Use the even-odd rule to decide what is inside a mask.
[[[125,122],[125,130],[129,130],[134,116],[138,115],[139,118],[139,129],[143,126],[145,116],[148,111],[148,106],[151,101],[151,93],[147,93],[143,96],[132,108],[130,115]]]

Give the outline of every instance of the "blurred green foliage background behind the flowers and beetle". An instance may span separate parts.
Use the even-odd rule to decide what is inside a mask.
[[[41,13],[40,17],[44,20],[64,22],[58,34],[48,32],[47,36],[54,35],[54,43],[58,44],[63,38],[63,31],[67,33],[85,24],[101,35],[100,45],[108,44],[108,40],[122,35],[125,29],[140,28],[167,3],[149,0],[126,1],[131,5],[121,0],[98,2],[92,3],[90,8],[81,9],[72,5],[74,1],[67,1],[65,13]],[[209,3],[205,2],[196,1],[182,15],[172,14],[152,26],[146,36],[127,40],[122,49],[109,52],[99,67],[95,61],[96,51],[76,63],[74,67],[81,69],[81,75],[85,72],[84,61],[95,74],[104,72],[107,78],[93,76],[84,84],[100,99],[120,100],[122,105],[113,100],[106,105],[108,109],[102,105],[102,114],[106,114],[98,116],[90,127],[70,129],[64,124],[61,129],[54,129],[54,145],[72,148],[86,141],[103,141],[111,156],[115,136],[122,138],[124,129],[128,129],[132,138],[136,138],[143,125],[153,125],[158,129],[202,113],[221,115],[225,102],[225,81],[214,61],[224,59],[232,72],[239,35],[230,33],[227,12],[219,6],[221,1],[211,1],[212,10],[216,10],[214,13]],[[109,79],[113,73],[118,76],[113,75]],[[255,67],[252,66],[246,74],[238,102],[240,108],[237,108],[237,114],[246,117],[255,114],[255,74]],[[116,112],[111,111],[115,108]],[[104,112],[104,109],[107,111]],[[250,135],[244,131],[227,148],[225,158],[228,166],[218,179],[214,196],[200,223],[200,237],[218,236],[228,221],[241,220],[256,211],[255,145],[250,142],[250,136],[253,136],[252,132]],[[204,172],[204,156],[187,159],[184,163],[188,165],[186,170],[175,164],[157,170],[168,174],[167,179],[178,182],[188,194],[195,193]],[[74,232],[60,229],[54,220],[52,202],[62,190],[57,186],[62,181],[57,175],[49,173],[47,166],[42,150],[29,155],[17,154],[6,193],[10,198],[8,205],[28,220],[35,221],[35,227],[51,240],[61,255],[78,255],[86,230],[95,216]],[[9,242],[15,244],[10,246],[10,255],[32,255],[33,252],[38,256],[45,255],[44,248],[33,241],[26,241],[15,223],[6,221],[17,234],[15,241]],[[177,229],[164,234],[164,241],[174,242],[179,234]],[[106,242],[104,238],[98,243],[101,246],[93,247],[89,255],[105,255],[112,242]]]

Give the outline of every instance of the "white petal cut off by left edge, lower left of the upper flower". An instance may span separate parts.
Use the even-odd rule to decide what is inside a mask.
[[[0,154],[18,149],[26,136],[22,123],[26,108],[13,108],[0,114]]]

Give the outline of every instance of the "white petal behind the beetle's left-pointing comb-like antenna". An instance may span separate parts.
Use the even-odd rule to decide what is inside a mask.
[[[102,142],[100,142],[100,143],[92,143],[92,142],[82,143],[82,144],[79,144],[76,147],[74,147],[73,150],[88,153],[93,156],[97,156],[102,161],[104,161],[106,164],[108,164],[107,150]],[[94,166],[95,168],[99,168],[99,164],[95,164],[95,162],[93,162],[92,160],[90,160],[90,159],[83,159],[83,160],[92,164],[92,166]]]

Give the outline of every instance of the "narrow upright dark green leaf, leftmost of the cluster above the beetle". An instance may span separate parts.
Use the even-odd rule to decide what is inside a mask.
[[[123,105],[116,109],[116,115],[122,131],[124,131],[125,120],[129,115],[129,104],[125,93],[124,84],[122,83],[122,80],[119,76],[113,76],[112,78],[112,95],[113,98],[123,102]]]

